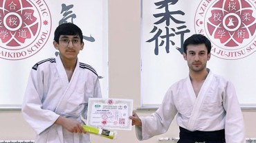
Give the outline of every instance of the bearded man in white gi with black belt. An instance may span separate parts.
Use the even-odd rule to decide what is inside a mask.
[[[235,88],[230,81],[206,68],[211,43],[201,34],[184,42],[183,58],[188,61],[189,76],[168,89],[155,113],[129,118],[138,140],[165,133],[176,115],[180,126],[179,143],[244,143],[244,119]]]

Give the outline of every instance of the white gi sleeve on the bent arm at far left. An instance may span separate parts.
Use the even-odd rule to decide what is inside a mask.
[[[39,69],[32,69],[28,78],[28,85],[21,107],[24,119],[35,130],[37,135],[48,129],[59,118],[51,110],[42,109],[44,73]]]

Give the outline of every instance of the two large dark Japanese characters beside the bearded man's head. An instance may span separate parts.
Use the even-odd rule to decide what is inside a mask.
[[[184,34],[189,33],[190,30],[187,29],[187,26],[184,25],[185,21],[181,21],[179,19],[175,18],[175,15],[185,15],[185,13],[181,10],[176,11],[170,11],[170,5],[175,5],[178,2],[178,0],[163,0],[158,1],[154,3],[158,8],[161,9],[164,8],[165,12],[153,14],[153,16],[156,19],[159,19],[154,23],[154,28],[150,33],[154,33],[154,36],[152,39],[147,40],[146,42],[154,42],[155,43],[155,49],[154,54],[158,55],[159,53],[159,47],[165,45],[165,51],[167,53],[170,52],[170,45],[174,46],[175,43],[172,41],[172,38],[174,36],[180,36],[181,39],[181,47],[176,47],[176,50],[178,50],[181,54],[183,54],[183,41],[184,41]],[[172,21],[170,21],[172,20]],[[172,28],[170,28],[170,23],[174,22],[176,23],[176,27],[172,25]],[[165,23],[165,30],[162,30],[161,28],[158,28],[157,25]],[[173,28],[174,27],[174,28]]]

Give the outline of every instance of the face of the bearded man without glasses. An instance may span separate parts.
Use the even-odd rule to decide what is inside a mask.
[[[187,54],[183,53],[183,58],[188,61],[191,72],[201,72],[206,68],[206,63],[210,60],[205,44],[188,45]]]

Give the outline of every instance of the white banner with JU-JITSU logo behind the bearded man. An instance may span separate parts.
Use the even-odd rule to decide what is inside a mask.
[[[208,67],[231,80],[241,105],[256,104],[255,0],[143,0],[143,107],[161,104],[167,89],[188,76],[183,42],[203,34],[212,42]]]

